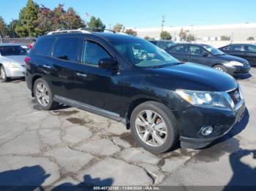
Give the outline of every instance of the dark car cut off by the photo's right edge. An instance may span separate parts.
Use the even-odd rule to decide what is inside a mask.
[[[249,61],[251,66],[256,66],[256,44],[230,44],[220,47],[219,50],[229,55],[244,58]]]

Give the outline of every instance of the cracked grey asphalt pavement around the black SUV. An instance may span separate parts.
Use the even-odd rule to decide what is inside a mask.
[[[256,186],[256,69],[238,80],[247,112],[206,149],[153,155],[120,122],[39,109],[23,80],[0,83],[0,186]],[[53,188],[54,190],[54,188]]]

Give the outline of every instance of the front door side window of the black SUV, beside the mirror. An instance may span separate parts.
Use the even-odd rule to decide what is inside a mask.
[[[108,52],[100,45],[89,40],[83,44],[82,63],[98,66],[103,58],[111,58]]]

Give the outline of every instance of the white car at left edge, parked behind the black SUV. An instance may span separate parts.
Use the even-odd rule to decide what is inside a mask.
[[[20,44],[0,44],[0,78],[7,81],[10,78],[25,77],[25,58],[28,52]]]

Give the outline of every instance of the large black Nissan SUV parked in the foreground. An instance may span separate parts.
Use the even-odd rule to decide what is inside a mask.
[[[148,52],[136,57],[138,49]],[[26,58],[26,83],[45,110],[59,103],[124,122],[150,152],[202,148],[244,114],[236,79],[181,64],[146,40],[122,34],[74,32],[37,39]]]

